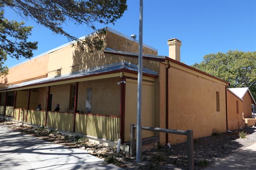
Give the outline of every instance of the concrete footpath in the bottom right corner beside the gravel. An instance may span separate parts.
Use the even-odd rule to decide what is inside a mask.
[[[256,143],[234,152],[204,170],[255,170]]]

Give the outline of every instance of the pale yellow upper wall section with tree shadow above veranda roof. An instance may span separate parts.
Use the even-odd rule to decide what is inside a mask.
[[[68,45],[49,54],[48,77],[59,76],[92,67],[101,66],[104,59],[103,49],[106,48],[106,35],[100,36],[103,48],[97,50],[84,45],[84,49],[77,45]],[[93,52],[90,52],[93,51]]]

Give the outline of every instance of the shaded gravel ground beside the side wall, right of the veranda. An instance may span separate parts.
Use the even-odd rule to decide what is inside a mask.
[[[246,138],[239,138],[239,131],[247,132]],[[256,143],[256,128],[243,128],[234,132],[225,132],[203,138],[194,139],[194,167],[201,169],[221,160],[236,150]],[[160,146],[142,153],[142,163],[126,160],[130,169],[186,169],[186,143],[172,145],[171,148]]]

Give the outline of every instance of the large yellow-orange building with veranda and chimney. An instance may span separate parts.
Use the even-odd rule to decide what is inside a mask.
[[[111,28],[105,30],[101,50],[71,42],[11,67],[2,79],[8,87],[0,91],[1,114],[129,141],[130,124],[136,123],[138,41]],[[192,129],[194,138],[225,132],[229,83],[181,63],[180,40],[170,39],[167,44],[168,57],[149,45],[143,47],[142,125]],[[44,111],[33,110],[37,103]],[[53,112],[57,103],[58,113]],[[186,140],[175,134],[142,132],[143,138],[151,136],[159,137],[161,143]]]

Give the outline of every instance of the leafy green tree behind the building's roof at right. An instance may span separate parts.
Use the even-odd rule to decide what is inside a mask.
[[[192,67],[230,82],[230,87],[249,87],[256,99],[256,51],[228,51],[205,55]]]

